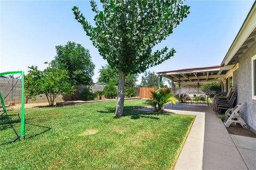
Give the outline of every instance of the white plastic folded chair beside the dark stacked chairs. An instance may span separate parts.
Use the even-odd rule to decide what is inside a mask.
[[[243,105],[244,104],[239,103],[238,105],[236,105],[236,107],[228,109],[226,111],[226,120],[224,121],[226,127],[229,127],[231,123],[239,123],[244,129],[250,129],[250,126],[247,125],[242,118],[242,113],[240,109]]]

